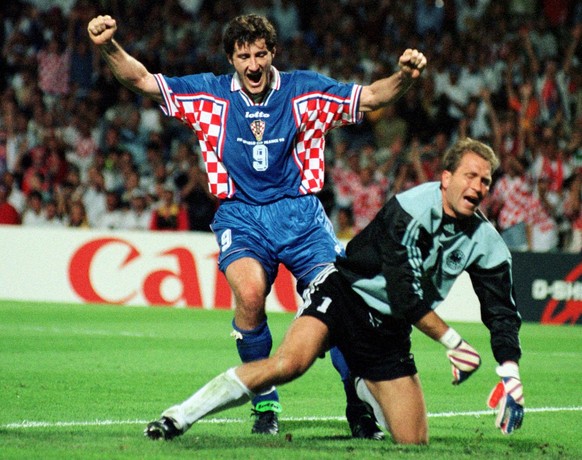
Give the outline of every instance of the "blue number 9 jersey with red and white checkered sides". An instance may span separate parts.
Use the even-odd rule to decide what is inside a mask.
[[[362,87],[310,71],[273,68],[255,104],[236,74],[155,75],[169,116],[196,133],[211,193],[265,204],[321,190],[325,134],[361,121]]]

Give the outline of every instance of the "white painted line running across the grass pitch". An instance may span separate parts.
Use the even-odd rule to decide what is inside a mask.
[[[525,412],[543,413],[543,412],[582,412],[582,406],[570,407],[529,407]],[[494,414],[494,410],[467,411],[467,412],[436,412],[429,413],[430,418],[443,417],[479,417],[481,415]],[[281,421],[291,422],[327,422],[327,421],[344,421],[345,417],[282,417]],[[24,420],[18,423],[7,423],[0,425],[0,428],[18,429],[18,428],[59,428],[71,426],[110,426],[110,425],[145,425],[151,420],[94,420],[85,422],[34,422]],[[197,423],[245,423],[247,419],[242,418],[209,418],[198,421]]]

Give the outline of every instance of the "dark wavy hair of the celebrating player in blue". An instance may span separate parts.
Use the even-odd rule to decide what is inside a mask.
[[[224,31],[222,38],[224,52],[230,57],[234,54],[236,45],[251,44],[261,38],[265,39],[269,51],[275,50],[277,31],[266,17],[257,14],[237,16],[228,23]]]

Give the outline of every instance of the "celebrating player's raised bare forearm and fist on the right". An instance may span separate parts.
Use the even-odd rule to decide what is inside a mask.
[[[398,67],[399,70],[390,77],[362,88],[360,112],[370,112],[396,101],[420,77],[426,67],[426,57],[409,48],[398,59]]]

